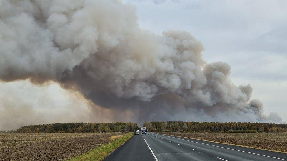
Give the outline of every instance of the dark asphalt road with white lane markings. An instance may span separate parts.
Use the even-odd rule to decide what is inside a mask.
[[[154,155],[153,155],[154,154]],[[176,136],[135,135],[105,160],[287,160],[287,154]]]

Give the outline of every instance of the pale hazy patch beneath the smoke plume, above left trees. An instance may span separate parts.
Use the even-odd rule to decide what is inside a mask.
[[[59,122],[110,122],[111,110],[94,105],[78,92],[49,82],[35,86],[28,80],[0,82],[0,130]],[[128,117],[127,117],[128,119]]]

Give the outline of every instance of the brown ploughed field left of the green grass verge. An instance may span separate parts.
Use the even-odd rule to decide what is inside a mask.
[[[125,133],[0,134],[0,160],[66,160]]]

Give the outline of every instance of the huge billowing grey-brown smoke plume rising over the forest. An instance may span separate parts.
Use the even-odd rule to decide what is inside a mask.
[[[0,0],[0,80],[52,80],[140,123],[280,122],[250,100],[250,85],[232,84],[227,63],[205,63],[200,41],[141,30],[135,10],[116,0]]]

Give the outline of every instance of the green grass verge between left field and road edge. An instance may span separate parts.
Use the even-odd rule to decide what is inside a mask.
[[[109,155],[110,152],[113,152],[116,148],[124,144],[129,138],[131,138],[134,133],[128,133],[123,135],[121,138],[117,138],[116,140],[112,141],[109,144],[101,145],[95,149],[92,149],[82,155],[78,155],[68,161],[75,161],[75,160],[103,160],[105,157]]]

